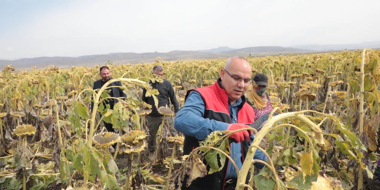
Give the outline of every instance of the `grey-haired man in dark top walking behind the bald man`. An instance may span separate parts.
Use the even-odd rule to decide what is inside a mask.
[[[163,78],[164,69],[161,65],[156,65],[153,67],[153,74],[156,76],[159,76],[163,79],[163,82],[152,82],[149,81],[149,84],[152,86],[153,89],[157,89],[159,94],[157,95],[158,99],[158,108],[168,106],[170,107],[170,102],[174,106],[174,114],[177,114],[177,111],[179,109],[176,93],[174,92],[173,86],[171,83]],[[163,115],[158,113],[158,110],[156,106],[154,105],[154,99],[152,96],[146,97],[145,96],[146,89],[142,90],[142,101],[152,105],[152,112],[147,116],[147,125],[149,128],[149,140],[148,140],[148,149],[150,151],[149,153],[149,159],[154,159],[154,152],[157,147],[156,143],[156,135],[158,131],[158,127],[160,127]],[[170,100],[170,102],[169,102]],[[170,132],[171,135],[175,136],[177,135],[177,131],[173,127],[173,117],[172,116],[165,116],[165,123],[168,123],[170,126]]]

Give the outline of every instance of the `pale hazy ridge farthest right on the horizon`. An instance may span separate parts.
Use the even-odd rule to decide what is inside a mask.
[[[377,49],[380,48],[380,41],[371,41],[371,42],[362,42],[357,44],[328,44],[328,45],[320,45],[320,44],[310,44],[310,45],[299,45],[299,46],[291,46],[294,48],[301,49],[310,49],[313,51],[342,51],[344,49],[363,49],[363,48],[372,48]]]

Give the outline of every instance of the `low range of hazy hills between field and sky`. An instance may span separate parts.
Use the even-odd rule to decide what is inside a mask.
[[[32,67],[46,67],[55,65],[60,68],[71,66],[103,65],[108,61],[115,64],[120,63],[151,63],[157,57],[165,61],[193,60],[193,59],[218,59],[232,56],[266,56],[279,54],[302,54],[313,52],[342,51],[344,49],[380,48],[380,41],[364,42],[358,44],[330,44],[330,45],[298,45],[291,47],[280,46],[258,46],[234,49],[222,46],[207,50],[198,51],[170,51],[170,52],[147,52],[147,53],[109,53],[101,55],[84,55],[80,57],[35,57],[17,60],[0,60],[0,67],[12,64],[16,69],[31,69]]]

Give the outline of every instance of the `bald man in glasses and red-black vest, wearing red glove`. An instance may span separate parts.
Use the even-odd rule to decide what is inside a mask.
[[[231,57],[220,70],[220,78],[214,85],[189,90],[184,106],[174,119],[174,128],[185,135],[184,155],[199,147],[213,131],[250,128],[254,122],[253,108],[245,102],[244,94],[251,84],[252,71],[249,62],[243,57]],[[250,135],[252,134],[252,135]],[[237,167],[241,169],[247,150],[254,136],[252,130],[233,133],[230,138],[231,154]],[[256,150],[255,159],[266,161],[266,156]],[[260,163],[255,163],[263,168]],[[236,187],[237,171],[226,159],[221,171],[198,177],[186,187],[188,176],[182,182],[182,190],[233,190]]]

